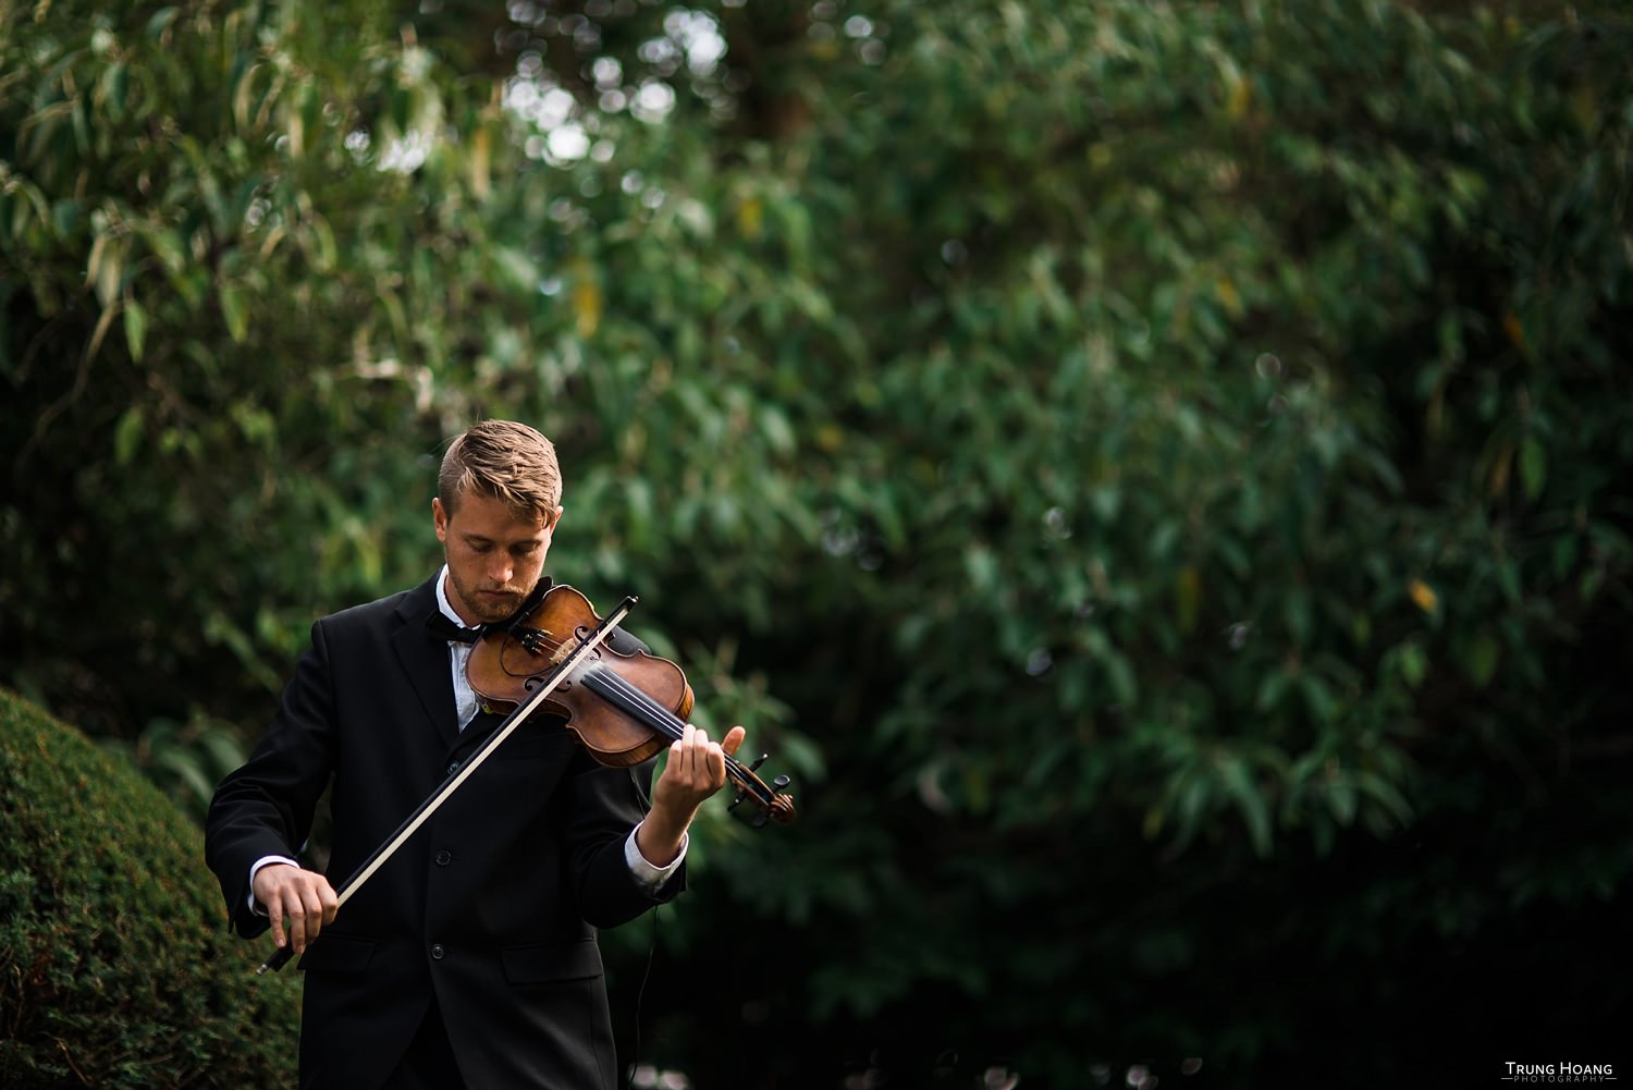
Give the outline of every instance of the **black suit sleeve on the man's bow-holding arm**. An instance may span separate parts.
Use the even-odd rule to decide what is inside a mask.
[[[297,856],[335,763],[333,685],[323,623],[284,688],[278,716],[248,762],[216,788],[204,824],[204,861],[220,882],[232,928],[253,938],[269,922],[250,912],[250,866]]]

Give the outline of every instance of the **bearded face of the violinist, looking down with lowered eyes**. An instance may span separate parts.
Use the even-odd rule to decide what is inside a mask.
[[[465,495],[452,515],[431,500],[431,516],[447,556],[449,605],[475,626],[508,619],[532,593],[562,508],[549,518],[518,518],[505,500]]]

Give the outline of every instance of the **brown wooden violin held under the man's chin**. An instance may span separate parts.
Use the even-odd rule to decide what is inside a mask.
[[[634,598],[624,613],[629,605]],[[555,677],[596,632],[606,637]],[[558,583],[534,595],[509,621],[483,628],[465,663],[465,680],[477,696],[505,711],[527,704],[549,678],[552,690],[537,709],[565,717],[563,726],[601,765],[629,768],[683,735],[694,695],[678,665],[645,650],[617,650],[617,634],[596,616],[590,598]],[[789,778],[766,784],[754,775],[764,760],[743,765],[725,755],[727,778],[736,786],[732,806],[748,799],[758,807],[753,824],[771,819],[787,825],[794,820],[794,799],[782,791]]]

